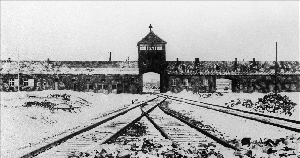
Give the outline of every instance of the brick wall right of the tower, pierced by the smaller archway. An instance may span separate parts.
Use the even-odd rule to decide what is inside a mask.
[[[208,93],[215,91],[216,79],[225,78],[232,82],[232,92],[262,92],[268,93],[274,91],[275,76],[261,75],[205,75],[200,76],[199,92]],[[176,86],[172,86],[172,79],[176,79]],[[188,85],[183,85],[183,79],[188,79]],[[204,85],[204,79],[207,79],[208,85]],[[194,75],[168,75],[167,90],[180,92],[183,89],[188,89],[193,92],[198,92],[197,87],[198,76]],[[299,92],[299,75],[278,75],[277,76],[277,91],[282,92]]]

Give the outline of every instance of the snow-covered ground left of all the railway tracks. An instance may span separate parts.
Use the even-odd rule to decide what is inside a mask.
[[[29,98],[28,94],[37,97]],[[39,98],[49,94],[70,94],[71,97],[67,102],[61,98]],[[76,127],[104,114],[155,97],[149,94],[96,94],[70,90],[1,92],[1,155],[38,144],[66,131],[76,130]],[[131,104],[132,100],[136,99],[138,101],[134,105]],[[77,108],[69,112],[62,109],[22,106],[31,101],[56,103],[57,108],[68,108],[69,105]]]

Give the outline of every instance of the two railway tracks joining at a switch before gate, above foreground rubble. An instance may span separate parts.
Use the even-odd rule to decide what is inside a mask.
[[[214,149],[218,151],[241,151],[241,149],[225,142],[223,139],[168,112],[160,106],[162,102],[167,100],[167,97],[157,95],[159,97],[77,131],[60,141],[25,154],[23,157],[72,157],[82,149],[89,149],[105,143],[128,143],[141,138],[141,136],[146,136],[153,141],[163,138],[170,139],[175,148],[180,144],[201,146],[212,143],[216,145]]]

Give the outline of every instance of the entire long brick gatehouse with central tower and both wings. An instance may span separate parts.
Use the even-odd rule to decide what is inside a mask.
[[[138,61],[1,61],[1,91],[70,89],[95,93],[143,93],[143,74],[160,74],[160,91],[216,91],[230,79],[232,92],[274,91],[275,61],[166,61],[167,42],[153,31],[137,43]],[[277,90],[299,91],[299,61],[278,61]]]

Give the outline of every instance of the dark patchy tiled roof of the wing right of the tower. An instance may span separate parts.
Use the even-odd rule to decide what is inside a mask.
[[[200,61],[199,66],[195,61],[167,61],[168,75],[274,75],[275,61]],[[217,70],[217,65],[219,70]],[[289,70],[286,69],[289,67]],[[299,75],[299,61],[278,61],[278,75]]]

